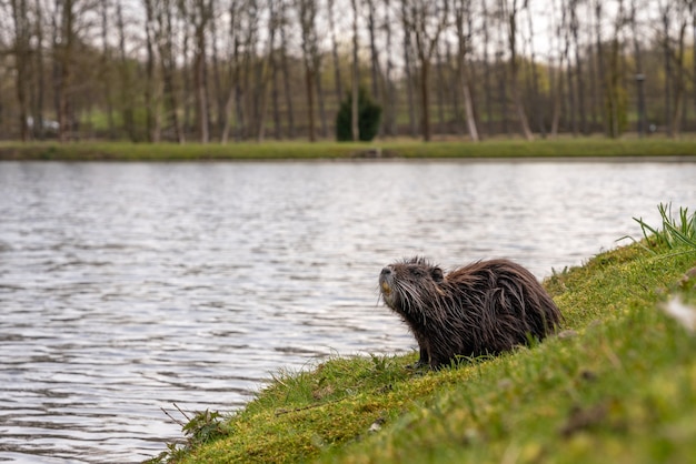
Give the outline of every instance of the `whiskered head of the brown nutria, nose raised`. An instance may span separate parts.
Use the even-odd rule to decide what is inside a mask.
[[[405,316],[416,316],[441,294],[443,270],[416,256],[389,264],[379,274],[379,291],[389,307]]]

